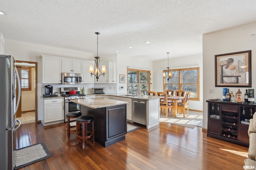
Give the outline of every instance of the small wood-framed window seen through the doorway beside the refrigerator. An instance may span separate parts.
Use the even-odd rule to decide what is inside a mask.
[[[21,90],[29,91],[31,90],[31,68],[22,67],[21,68]]]

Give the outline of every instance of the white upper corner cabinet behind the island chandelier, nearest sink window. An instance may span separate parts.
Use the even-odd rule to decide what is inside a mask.
[[[102,69],[102,65],[105,65],[107,72],[105,76],[101,75],[98,79],[95,78],[95,83],[116,83],[116,62],[100,62],[100,70]]]

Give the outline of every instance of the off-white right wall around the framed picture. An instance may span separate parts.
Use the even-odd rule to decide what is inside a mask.
[[[251,36],[253,33],[256,33],[256,22],[203,35],[203,128],[207,128],[206,100],[210,97],[222,98],[223,87],[215,87],[214,55],[252,50],[252,88],[256,89],[256,36]],[[214,89],[214,94],[209,94],[209,89]],[[234,91],[237,89],[230,88]],[[248,88],[240,88],[242,94],[245,93],[245,89]],[[244,95],[242,96],[243,101]]]

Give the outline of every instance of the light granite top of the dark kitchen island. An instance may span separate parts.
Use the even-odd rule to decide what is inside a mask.
[[[80,104],[82,106],[90,107],[92,109],[128,104],[128,102],[123,102],[123,101],[119,101],[119,100],[111,100],[111,99],[106,99],[106,98],[76,99],[76,100],[72,100],[72,102],[74,102],[76,104]]]

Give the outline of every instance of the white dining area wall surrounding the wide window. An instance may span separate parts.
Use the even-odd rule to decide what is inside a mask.
[[[152,91],[155,92],[163,92],[164,83],[163,83],[163,70],[166,70],[168,65],[168,59],[153,61],[153,84]],[[177,58],[169,58],[169,67],[170,69],[176,68],[191,68],[191,67],[199,67],[199,80],[200,80],[200,100],[189,101],[189,109],[194,110],[203,110],[203,62],[202,62],[202,54],[190,55],[184,57]]]

